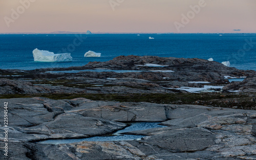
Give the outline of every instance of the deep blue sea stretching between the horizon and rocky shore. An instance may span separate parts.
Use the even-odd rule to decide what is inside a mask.
[[[256,70],[256,34],[92,34],[74,40],[74,34],[0,35],[0,68],[34,70],[46,67],[82,66],[90,61],[108,61],[120,55],[214,58],[230,61],[231,66],[242,70]],[[148,37],[155,39],[148,39]],[[86,38],[85,38],[86,37]],[[246,47],[246,51],[243,48]],[[48,50],[63,53],[67,50],[72,62],[35,62],[32,51]],[[89,50],[100,52],[101,57],[85,58]],[[238,51],[241,51],[238,54]]]

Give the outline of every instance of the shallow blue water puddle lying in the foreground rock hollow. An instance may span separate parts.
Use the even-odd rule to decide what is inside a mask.
[[[63,140],[46,140],[38,142],[40,144],[67,144],[67,143],[77,143],[82,141],[123,141],[123,140],[138,140],[143,138],[145,135],[128,135],[128,134],[121,134],[123,132],[130,132],[135,130],[144,130],[150,128],[157,128],[157,127],[166,127],[158,125],[159,122],[136,122],[131,123],[131,126],[126,127],[122,130],[118,130],[117,132],[113,133],[112,135],[105,135],[105,136],[93,136],[91,138],[84,138],[84,139],[63,139]]]

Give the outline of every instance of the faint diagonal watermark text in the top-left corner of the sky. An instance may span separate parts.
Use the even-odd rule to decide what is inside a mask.
[[[7,27],[9,28],[10,24],[14,23],[15,20],[17,20],[20,17],[20,15],[22,15],[27,9],[29,9],[31,3],[34,3],[35,1],[36,0],[20,0],[20,5],[16,9],[11,9],[11,16],[4,17]]]

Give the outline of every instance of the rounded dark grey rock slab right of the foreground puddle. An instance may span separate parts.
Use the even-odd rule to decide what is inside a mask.
[[[174,129],[146,136],[140,143],[156,145],[170,151],[198,151],[214,145],[215,136],[202,128]]]

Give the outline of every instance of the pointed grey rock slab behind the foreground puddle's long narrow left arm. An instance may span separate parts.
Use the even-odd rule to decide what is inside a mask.
[[[83,117],[74,113],[64,113],[54,121],[24,129],[27,134],[45,134],[51,138],[82,138],[102,135],[122,129],[126,124],[98,118]]]

